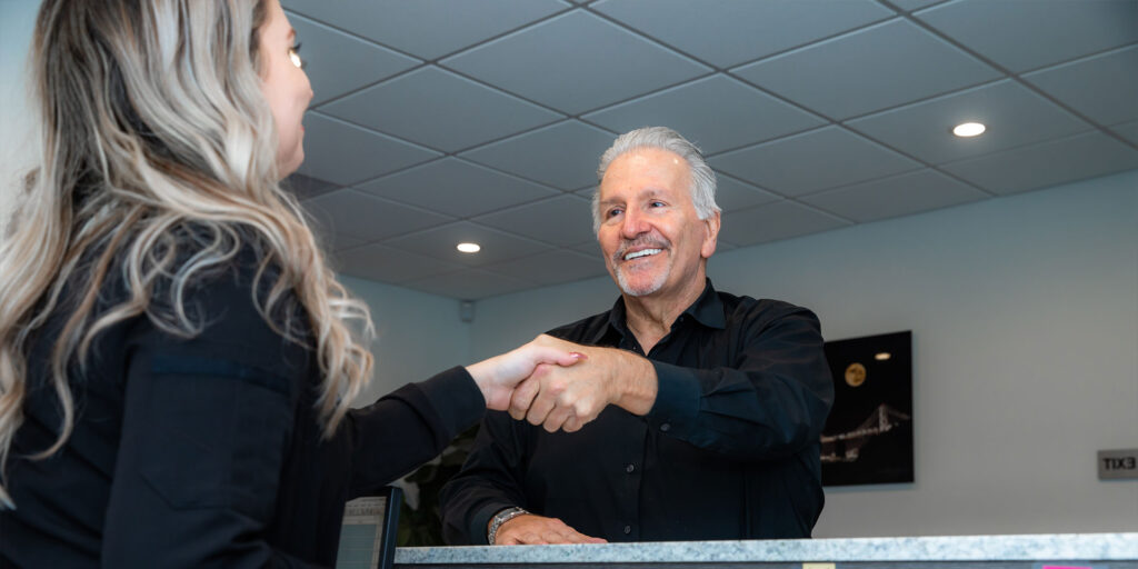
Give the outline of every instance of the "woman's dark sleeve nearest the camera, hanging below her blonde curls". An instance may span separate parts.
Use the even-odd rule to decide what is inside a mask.
[[[245,272],[242,270],[242,272]],[[307,352],[253,305],[248,278],[189,291],[192,339],[138,319],[126,344],[106,567],[302,567],[265,541]]]

